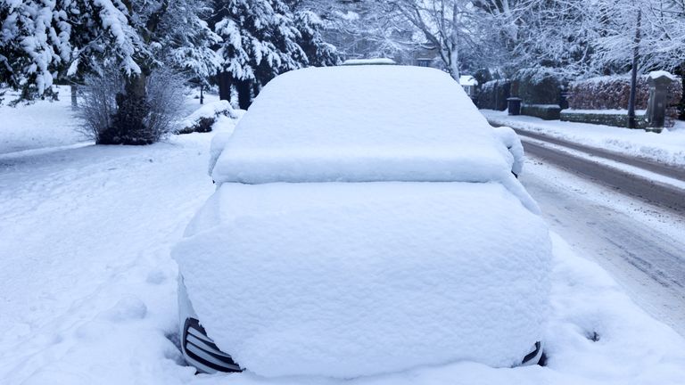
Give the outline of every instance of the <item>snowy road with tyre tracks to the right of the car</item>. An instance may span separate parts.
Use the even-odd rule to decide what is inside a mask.
[[[552,229],[607,269],[640,307],[685,335],[685,218],[598,184],[588,169],[572,171],[573,161],[559,168],[563,160],[524,145],[529,161],[521,180]]]

